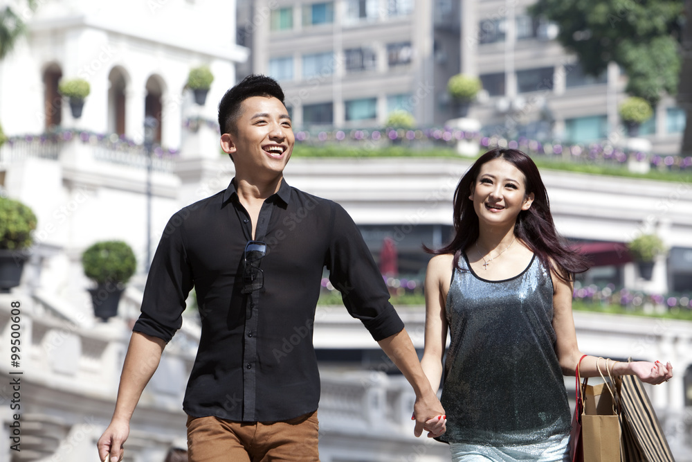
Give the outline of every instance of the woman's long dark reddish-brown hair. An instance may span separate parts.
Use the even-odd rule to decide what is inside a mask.
[[[514,235],[524,241],[529,249],[565,282],[572,281],[572,274],[589,269],[585,256],[570,249],[555,230],[548,194],[536,164],[531,157],[516,149],[496,148],[486,152],[473,163],[459,180],[454,193],[455,236],[452,242],[437,250],[425,247],[426,251],[435,255],[454,254],[454,264],[457,265],[461,251],[478,239],[478,215],[473,208],[473,201],[468,197],[481,166],[493,159],[504,159],[518,168],[524,174],[526,194],[534,193],[531,207],[520,211],[517,216]]]

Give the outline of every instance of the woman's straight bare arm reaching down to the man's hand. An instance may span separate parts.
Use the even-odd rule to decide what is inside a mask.
[[[445,301],[452,278],[452,260],[453,256],[448,254],[432,257],[426,271],[426,330],[421,366],[435,391],[442,377],[442,357],[447,341]]]

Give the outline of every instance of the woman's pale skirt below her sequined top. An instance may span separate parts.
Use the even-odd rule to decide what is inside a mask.
[[[449,443],[452,462],[569,462],[570,435],[554,435],[546,441],[524,446],[482,446]]]

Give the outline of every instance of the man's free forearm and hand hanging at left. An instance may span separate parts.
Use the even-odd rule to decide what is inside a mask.
[[[156,372],[166,342],[163,339],[132,332],[125,364],[122,365],[116,410],[111,423],[98,439],[98,456],[103,461],[110,454],[111,462],[122,460],[122,445],[129,435],[129,421],[140,396]]]

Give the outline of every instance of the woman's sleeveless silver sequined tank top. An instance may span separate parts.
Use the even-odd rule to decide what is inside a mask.
[[[450,346],[441,402],[453,443],[528,445],[570,432],[552,326],[553,285],[534,256],[518,276],[486,281],[459,258],[447,295]]]

